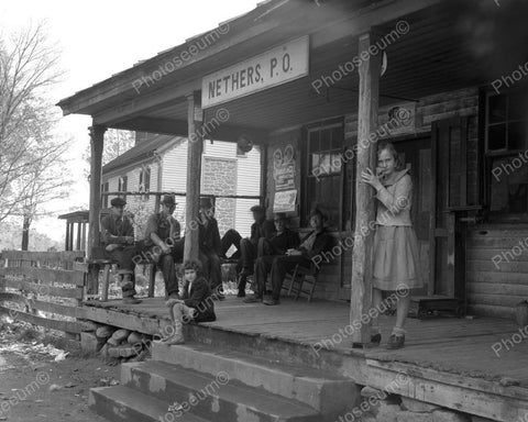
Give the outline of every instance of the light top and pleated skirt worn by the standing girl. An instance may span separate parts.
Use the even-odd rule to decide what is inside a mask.
[[[418,240],[410,221],[413,181],[407,170],[377,191],[373,285],[380,290],[424,286]]]

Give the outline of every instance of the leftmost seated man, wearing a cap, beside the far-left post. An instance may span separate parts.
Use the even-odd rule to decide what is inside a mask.
[[[134,298],[134,227],[128,216],[124,215],[127,201],[123,198],[113,198],[110,215],[101,221],[101,237],[105,244],[105,255],[108,259],[117,260],[121,273],[121,290],[123,302],[129,304],[141,303]]]

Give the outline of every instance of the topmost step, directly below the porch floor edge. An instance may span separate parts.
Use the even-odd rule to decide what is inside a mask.
[[[360,398],[360,389],[350,378],[228,348],[213,349],[202,344],[167,346],[155,343],[152,357],[154,360],[210,375],[226,371],[231,379],[298,400],[322,414],[339,414],[353,407]]]

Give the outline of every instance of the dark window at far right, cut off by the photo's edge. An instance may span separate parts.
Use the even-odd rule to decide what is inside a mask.
[[[486,98],[485,155],[490,214],[528,219],[528,154],[525,97],[510,92]]]

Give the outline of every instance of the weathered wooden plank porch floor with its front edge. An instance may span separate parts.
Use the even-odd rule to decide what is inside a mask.
[[[272,309],[228,297],[216,302],[218,321],[188,325],[187,338],[275,363],[308,365],[377,389],[394,386],[396,377],[406,374],[409,381],[398,385],[396,393],[493,420],[516,421],[528,412],[528,343],[515,323],[492,318],[409,319],[405,348],[386,351],[382,342],[380,347],[356,349],[345,329],[349,307],[284,299]],[[87,302],[85,309],[90,320],[148,334],[168,323],[162,298],[136,306]],[[381,318],[384,341],[393,319]]]

